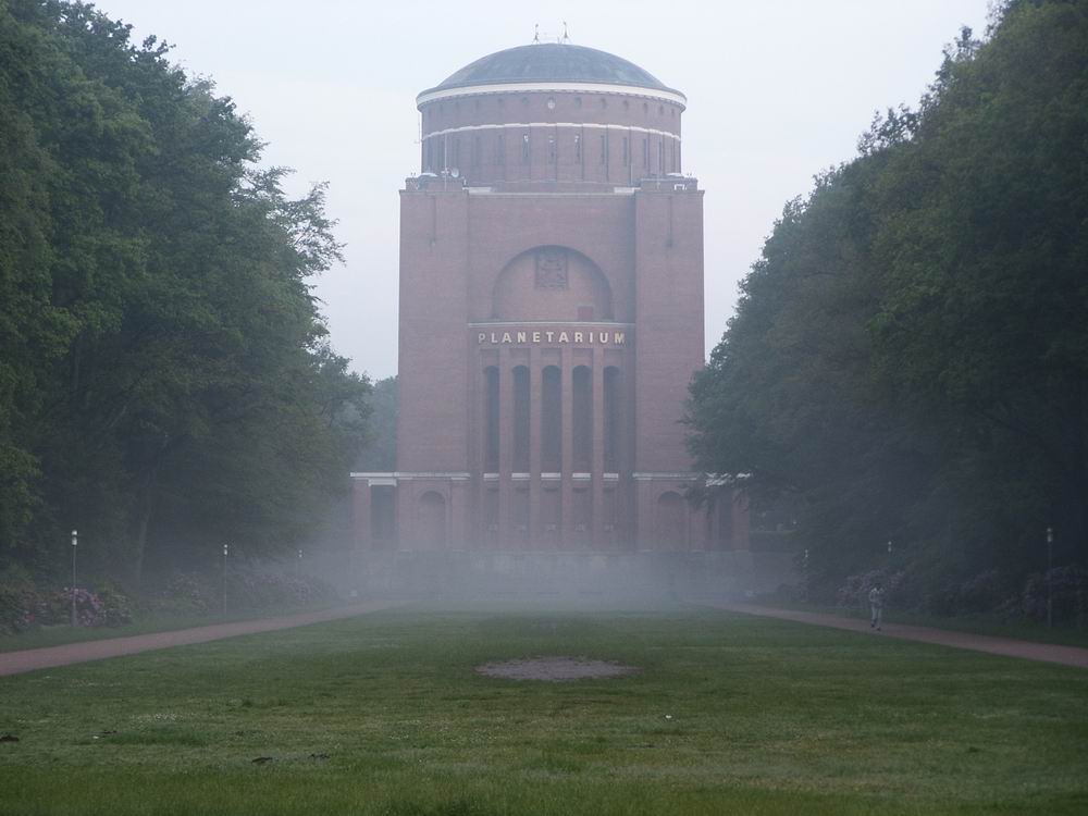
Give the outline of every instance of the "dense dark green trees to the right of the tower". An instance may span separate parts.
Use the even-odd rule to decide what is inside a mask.
[[[710,472],[792,492],[827,585],[1088,556],[1088,3],[1024,0],[787,206],[692,387]]]

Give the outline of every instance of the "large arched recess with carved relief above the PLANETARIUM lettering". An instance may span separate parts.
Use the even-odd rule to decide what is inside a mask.
[[[613,292],[601,269],[568,247],[535,247],[506,264],[492,287],[498,321],[614,320]]]

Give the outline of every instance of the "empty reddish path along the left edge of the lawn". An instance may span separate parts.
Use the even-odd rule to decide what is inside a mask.
[[[354,618],[357,615],[398,606],[396,602],[371,602],[353,604],[334,609],[323,609],[300,615],[287,615],[282,618],[264,618],[262,620],[242,620],[237,623],[217,623],[195,629],[177,629],[173,632],[154,632],[152,634],[136,634],[129,638],[110,638],[101,641],[84,643],[67,643],[63,646],[46,648],[27,648],[22,652],[0,653],[0,676],[18,675],[23,671],[48,669],[54,666],[67,666],[73,663],[101,660],[106,657],[134,655],[139,652],[150,652],[156,648],[185,646],[190,643],[207,643],[223,638],[236,638],[239,634],[272,632],[277,629],[294,629],[309,623],[321,623],[326,620]]]

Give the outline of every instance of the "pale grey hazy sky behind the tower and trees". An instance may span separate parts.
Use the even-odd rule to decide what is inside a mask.
[[[419,171],[416,95],[533,24],[631,60],[688,96],[684,170],[706,189],[706,346],[784,202],[850,159],[876,110],[914,104],[961,25],[988,0],[727,0],[718,3],[101,0],[174,44],[297,171],[329,181],[346,263],[318,281],[333,345],[356,370],[396,373],[397,189]],[[363,157],[380,156],[378,162]]]

